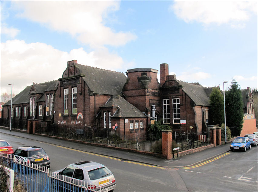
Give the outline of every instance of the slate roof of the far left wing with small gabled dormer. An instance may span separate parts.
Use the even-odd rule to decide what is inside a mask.
[[[12,105],[21,104],[21,103],[28,103],[29,102],[28,94],[30,94],[30,93],[32,93],[32,94],[33,93],[41,93],[41,94],[44,95],[44,93],[46,91],[56,90],[57,87],[58,87],[58,80],[49,81],[49,82],[40,83],[40,84],[33,83],[33,86],[35,88],[35,91],[31,91],[31,88],[32,88],[32,85],[31,85],[31,86],[27,86],[20,93],[18,93],[16,96],[14,96],[12,98]],[[45,97],[41,96],[37,100],[37,102],[39,102],[39,101],[45,101]],[[5,106],[5,105],[11,105],[11,100],[6,102],[3,106]]]

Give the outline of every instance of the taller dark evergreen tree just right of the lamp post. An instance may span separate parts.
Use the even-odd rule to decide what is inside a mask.
[[[226,125],[236,127],[234,135],[240,135],[243,128],[243,100],[240,86],[232,79],[229,91],[225,92]]]

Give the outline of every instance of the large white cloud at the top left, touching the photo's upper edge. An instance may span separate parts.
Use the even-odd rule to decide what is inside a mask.
[[[136,39],[131,32],[114,32],[104,25],[104,19],[119,6],[118,1],[14,1],[12,4],[12,8],[23,11],[18,17],[68,32],[81,43],[94,47],[120,46]]]

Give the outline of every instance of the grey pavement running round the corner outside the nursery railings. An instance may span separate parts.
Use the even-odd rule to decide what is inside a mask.
[[[230,143],[231,143],[229,141],[229,142],[227,142],[227,144],[212,147],[212,148],[209,148],[209,149],[206,149],[203,151],[191,153],[191,154],[184,155],[181,157],[176,157],[176,154],[175,154],[174,159],[167,160],[167,159],[144,155],[144,154],[140,154],[140,153],[109,149],[109,148],[105,148],[105,147],[92,146],[92,145],[87,145],[87,144],[82,144],[82,143],[74,143],[74,142],[70,142],[70,141],[59,140],[59,139],[55,139],[55,138],[38,136],[38,135],[33,135],[33,134],[28,134],[28,133],[22,133],[22,132],[17,132],[17,131],[13,131],[13,130],[10,131],[10,130],[2,129],[2,127],[1,127],[1,134],[2,133],[19,136],[19,137],[23,137],[23,138],[27,138],[27,139],[31,139],[31,140],[36,140],[36,141],[40,141],[40,142],[50,143],[50,144],[54,144],[54,145],[58,145],[58,146],[70,147],[72,149],[82,150],[82,151],[86,151],[86,152],[90,152],[90,153],[106,155],[106,156],[118,158],[121,160],[145,163],[145,164],[150,164],[150,165],[159,166],[159,167],[192,166],[194,164],[201,163],[203,161],[207,161],[209,159],[217,157],[223,153],[229,152],[230,151]]]

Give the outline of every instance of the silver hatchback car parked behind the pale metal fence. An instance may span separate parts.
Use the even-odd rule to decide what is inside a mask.
[[[82,186],[84,190],[87,188],[87,191],[114,191],[116,187],[113,173],[104,165],[92,161],[70,164],[64,169],[53,172],[52,176],[57,179],[65,178],[66,184],[69,182],[75,187]],[[65,188],[65,185],[56,182],[55,188]],[[69,190],[70,187],[66,187],[64,191]]]

